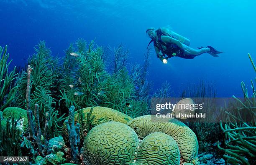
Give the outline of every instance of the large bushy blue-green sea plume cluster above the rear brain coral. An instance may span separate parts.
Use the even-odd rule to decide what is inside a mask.
[[[87,44],[82,39],[75,45],[76,47],[71,44],[66,51],[64,74],[60,79],[60,85],[64,87],[59,95],[61,106],[74,105],[77,109],[92,106],[110,107],[132,117],[149,113],[148,100],[138,100],[136,96],[136,88],[139,88],[136,86],[138,77],[142,79],[143,76],[140,75],[145,70],[129,74],[126,66],[128,50],[124,50],[122,45],[112,49],[114,59],[110,68],[113,70],[109,70],[106,67],[106,51],[103,47],[95,47],[94,41],[86,47]],[[71,51],[78,53],[76,60],[69,57]],[[74,63],[67,65],[68,60],[74,60]],[[141,95],[147,94],[145,87],[140,91]],[[75,92],[79,92],[80,95],[75,95]],[[134,105],[127,107],[127,102]]]

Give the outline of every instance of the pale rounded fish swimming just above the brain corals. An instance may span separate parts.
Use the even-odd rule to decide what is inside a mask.
[[[191,110],[191,105],[194,105],[195,102],[191,99],[191,98],[184,98],[182,100],[180,100],[179,102],[177,102],[177,105],[175,106],[172,114],[174,114],[174,116],[182,116],[182,115],[192,115],[195,114],[195,109]],[[182,114],[182,115],[179,115]],[[184,119],[186,120],[187,118],[182,118],[182,117],[177,117],[179,119]]]

